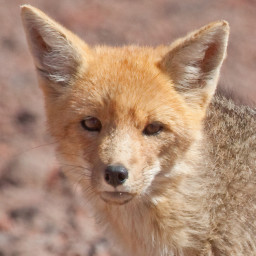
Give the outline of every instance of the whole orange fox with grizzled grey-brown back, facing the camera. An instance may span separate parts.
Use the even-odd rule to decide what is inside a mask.
[[[57,158],[119,255],[256,255],[256,109],[217,88],[228,22],[112,47],[21,17]]]

